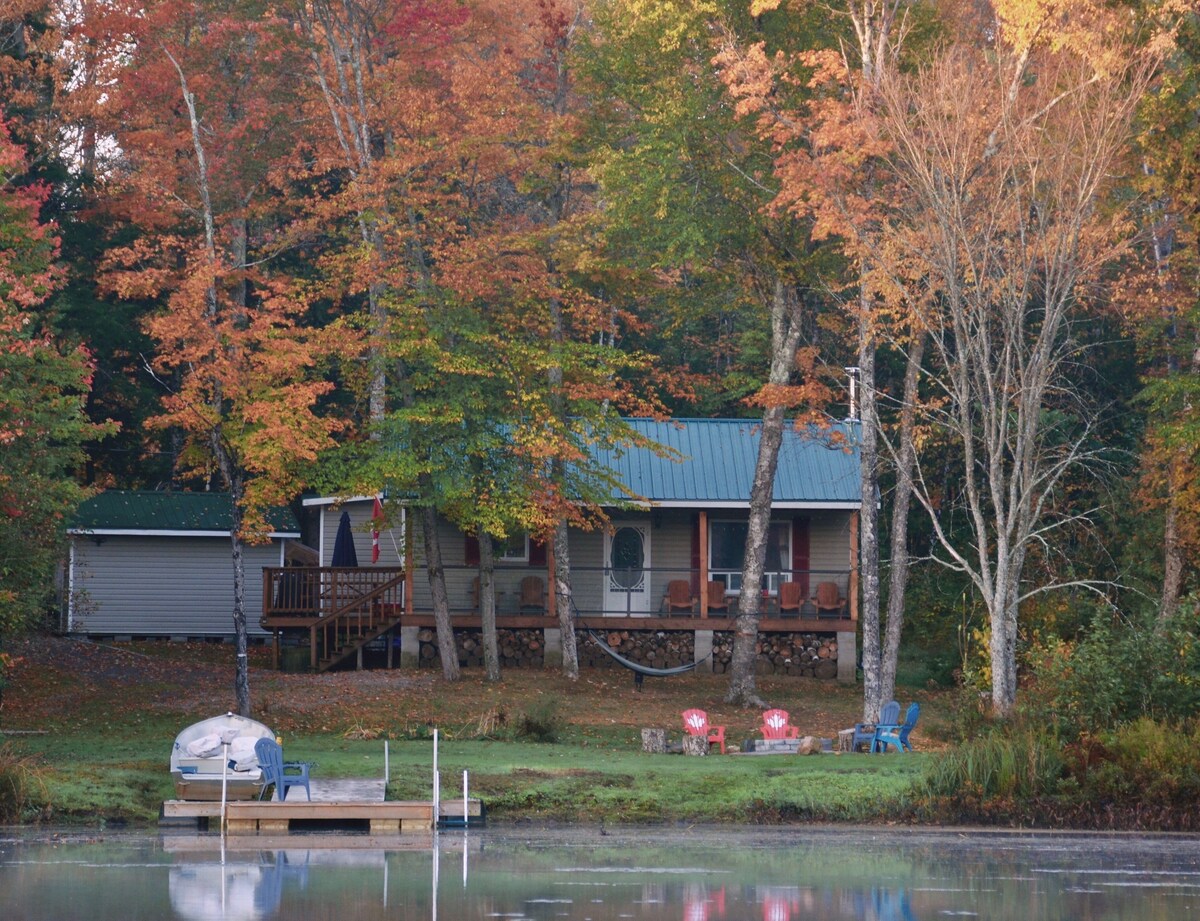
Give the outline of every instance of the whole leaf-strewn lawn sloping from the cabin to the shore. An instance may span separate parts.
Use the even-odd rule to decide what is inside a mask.
[[[26,815],[60,823],[149,823],[173,795],[167,760],[175,734],[233,708],[230,646],[22,640],[0,711],[0,772],[20,762],[32,777]],[[641,729],[682,735],[680,712],[708,711],[726,739],[754,736],[761,714],[722,702],[727,680],[688,674],[649,679],[589,670],[508,670],[488,684],[468,670],[284,675],[252,657],[253,716],[283,736],[289,759],[317,762],[314,776],[379,777],[389,740],[392,799],[428,799],[438,728],[443,796],[461,794],[462,771],[493,821],[778,823],[887,819],[923,771],[916,756],[650,756]],[[836,738],[862,708],[860,688],[811,679],[760,679],[762,696],[802,734]],[[930,750],[944,692],[905,690],[922,703],[913,734]],[[16,732],[14,732],[16,730]],[[35,734],[36,733],[36,734]],[[533,741],[539,735],[553,741]],[[0,803],[2,805],[2,803]]]

